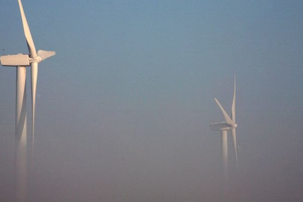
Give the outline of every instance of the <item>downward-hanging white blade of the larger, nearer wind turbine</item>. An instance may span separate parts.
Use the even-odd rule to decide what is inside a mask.
[[[31,63],[31,91],[32,91],[32,154],[34,153],[34,131],[35,131],[35,104],[37,89],[38,63]]]

